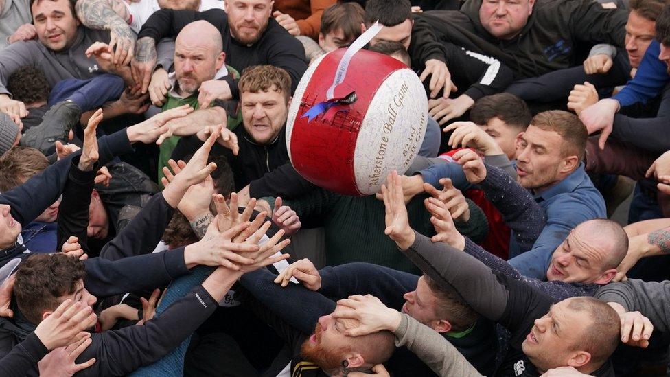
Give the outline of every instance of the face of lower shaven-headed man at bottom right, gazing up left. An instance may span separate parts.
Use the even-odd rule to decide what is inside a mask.
[[[583,312],[568,308],[568,300],[561,301],[544,317],[535,319],[522,350],[540,370],[566,367],[591,323]]]

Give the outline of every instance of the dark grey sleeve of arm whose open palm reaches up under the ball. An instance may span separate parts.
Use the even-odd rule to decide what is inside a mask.
[[[415,241],[402,253],[439,286],[455,289],[463,301],[492,321],[502,317],[507,288],[485,264],[472,255],[415,232]]]

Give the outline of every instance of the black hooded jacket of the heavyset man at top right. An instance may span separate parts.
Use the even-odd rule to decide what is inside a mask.
[[[468,0],[459,11],[435,10],[417,18],[426,19],[438,38],[501,60],[516,80],[581,64],[575,49],[585,44],[624,47],[625,10],[603,9],[590,0],[537,0],[517,36],[501,40],[479,19],[482,1]]]

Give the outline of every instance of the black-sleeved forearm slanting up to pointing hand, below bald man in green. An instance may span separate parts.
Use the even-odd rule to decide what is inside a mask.
[[[119,260],[151,253],[163,238],[174,209],[159,193],[144,205],[124,229],[100,251],[100,258]]]

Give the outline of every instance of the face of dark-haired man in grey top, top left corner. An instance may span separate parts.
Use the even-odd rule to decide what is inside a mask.
[[[54,51],[72,45],[79,21],[73,16],[68,0],[35,1],[31,11],[37,36],[43,45]]]

